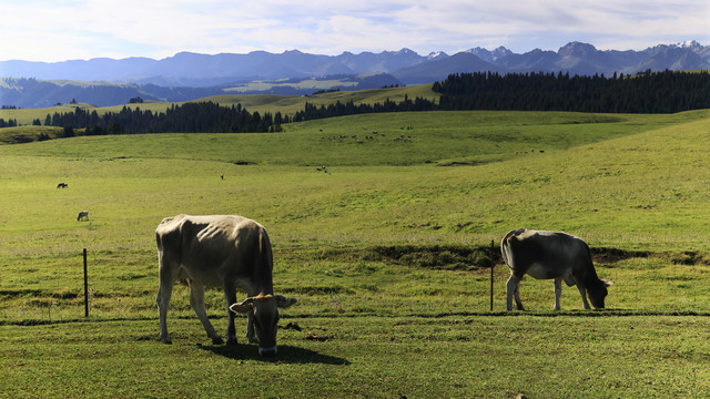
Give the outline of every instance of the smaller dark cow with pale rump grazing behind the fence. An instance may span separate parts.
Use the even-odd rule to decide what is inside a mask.
[[[559,310],[562,280],[576,285],[585,309],[587,296],[595,308],[604,309],[607,287],[611,282],[597,277],[587,243],[566,233],[537,232],[525,228],[511,231],[500,242],[503,258],[510,268],[507,283],[507,308],[513,310],[515,296],[518,310],[524,310],[518,285],[524,275],[539,279],[555,279],[555,310]]]

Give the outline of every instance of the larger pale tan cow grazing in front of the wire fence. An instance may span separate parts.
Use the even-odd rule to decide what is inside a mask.
[[[170,344],[166,315],[175,280],[190,287],[190,305],[217,345],[223,340],[207,319],[204,308],[204,287],[221,287],[226,298],[229,326],[227,344],[236,344],[234,313],[247,315],[246,337],[258,338],[260,355],[276,354],[278,310],[296,303],[295,298],[274,295],[271,242],[264,227],[242,216],[168,217],[155,229],[160,288],[160,338]],[[237,304],[236,289],[247,298]],[[231,311],[230,311],[231,310]]]

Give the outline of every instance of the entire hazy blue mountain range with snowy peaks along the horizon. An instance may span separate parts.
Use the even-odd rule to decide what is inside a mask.
[[[30,108],[72,99],[89,102],[90,99],[80,98],[82,91],[94,91],[88,95],[92,103],[110,105],[114,101],[124,103],[128,99],[123,99],[123,95],[130,95],[129,92],[146,99],[184,101],[194,95],[229,92],[307,94],[323,88],[323,84],[316,83],[326,80],[336,82],[331,89],[362,90],[430,83],[444,80],[450,73],[465,72],[561,71],[570,74],[611,75],[615,72],[630,74],[667,69],[710,69],[710,45],[687,41],[659,44],[642,51],[618,51],[598,50],[592,44],[570,42],[558,51],[535,49],[523,54],[499,47],[494,50],[474,48],[453,55],[444,52],[419,55],[412,50],[402,49],[381,53],[344,52],[339,55],[308,54],[292,50],[283,53],[254,51],[246,54],[214,55],[181,52],[162,60],[101,58],[51,63],[13,60],[0,61],[0,104]],[[377,78],[373,78],[375,75]],[[343,79],[345,82],[342,82]],[[262,84],[255,88],[251,84],[255,81]],[[313,81],[314,84],[308,86],[304,81]],[[49,90],[53,96],[42,98],[41,91],[37,89],[29,90],[32,92],[31,98],[24,95],[29,84],[27,82],[53,84],[55,88]],[[113,88],[111,90],[114,93],[119,91],[116,88],[121,88],[119,98],[114,95],[102,100],[97,91],[103,86]],[[62,91],[73,91],[75,95],[69,96],[68,93],[62,94]]]

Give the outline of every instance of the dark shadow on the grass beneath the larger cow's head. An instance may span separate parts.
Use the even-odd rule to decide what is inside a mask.
[[[224,356],[232,360],[262,360],[268,362],[285,362],[293,365],[322,364],[348,366],[347,359],[318,354],[314,350],[298,348],[290,345],[280,345],[278,354],[273,357],[258,355],[258,347],[255,345],[199,345],[200,349],[211,351],[215,355]]]

